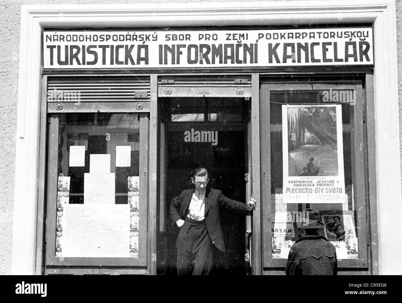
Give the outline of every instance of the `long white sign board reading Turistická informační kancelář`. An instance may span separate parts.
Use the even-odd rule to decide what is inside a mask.
[[[373,65],[373,30],[44,31],[45,69]]]

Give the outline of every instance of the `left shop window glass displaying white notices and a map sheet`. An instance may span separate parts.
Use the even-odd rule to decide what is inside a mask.
[[[137,113],[59,115],[56,257],[138,258]]]

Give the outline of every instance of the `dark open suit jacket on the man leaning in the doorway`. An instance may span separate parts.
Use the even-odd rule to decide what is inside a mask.
[[[175,224],[178,219],[185,220],[189,211],[191,197],[194,189],[183,190],[176,198],[170,201],[170,219]],[[247,205],[228,197],[225,197],[222,191],[207,187],[205,191],[205,225],[212,244],[219,250],[225,251],[224,237],[219,217],[219,209],[227,209],[244,215],[250,215],[247,211]]]

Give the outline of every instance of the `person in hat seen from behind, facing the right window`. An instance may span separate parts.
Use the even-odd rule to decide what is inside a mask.
[[[297,227],[306,235],[292,245],[286,263],[287,275],[336,275],[338,272],[335,247],[318,234],[324,227],[320,213],[308,208],[303,211],[303,222]]]

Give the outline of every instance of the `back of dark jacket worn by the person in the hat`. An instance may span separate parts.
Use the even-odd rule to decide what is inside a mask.
[[[325,237],[301,237],[290,249],[286,263],[287,275],[336,275],[335,247]]]

